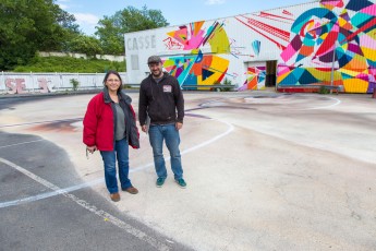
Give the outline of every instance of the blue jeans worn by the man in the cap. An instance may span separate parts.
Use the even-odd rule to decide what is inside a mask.
[[[153,147],[154,165],[158,178],[167,178],[166,163],[163,158],[163,140],[170,152],[171,169],[174,179],[183,178],[183,168],[179,151],[180,135],[174,124],[156,125],[149,128],[149,141]]]

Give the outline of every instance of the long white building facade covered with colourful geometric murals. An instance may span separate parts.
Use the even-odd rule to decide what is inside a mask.
[[[320,0],[268,11],[128,33],[128,81],[150,55],[184,85],[231,82],[242,89],[376,87],[376,0]]]

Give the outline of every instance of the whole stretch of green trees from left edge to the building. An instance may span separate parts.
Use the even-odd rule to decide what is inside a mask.
[[[128,7],[84,35],[74,15],[54,0],[0,0],[0,71],[32,61],[36,51],[124,55],[124,33],[167,26],[159,10]]]

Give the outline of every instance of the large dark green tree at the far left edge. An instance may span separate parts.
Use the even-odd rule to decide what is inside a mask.
[[[0,70],[26,64],[37,50],[61,50],[78,33],[74,21],[53,0],[0,0]]]

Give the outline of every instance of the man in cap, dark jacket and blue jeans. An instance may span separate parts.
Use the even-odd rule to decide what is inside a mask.
[[[183,127],[184,98],[179,82],[162,71],[162,61],[158,56],[147,60],[150,74],[141,83],[138,99],[138,120],[143,132],[149,133],[154,164],[158,176],[156,186],[162,187],[167,178],[163,158],[163,140],[171,156],[171,169],[174,180],[181,188],[186,183],[179,151],[179,130]]]

